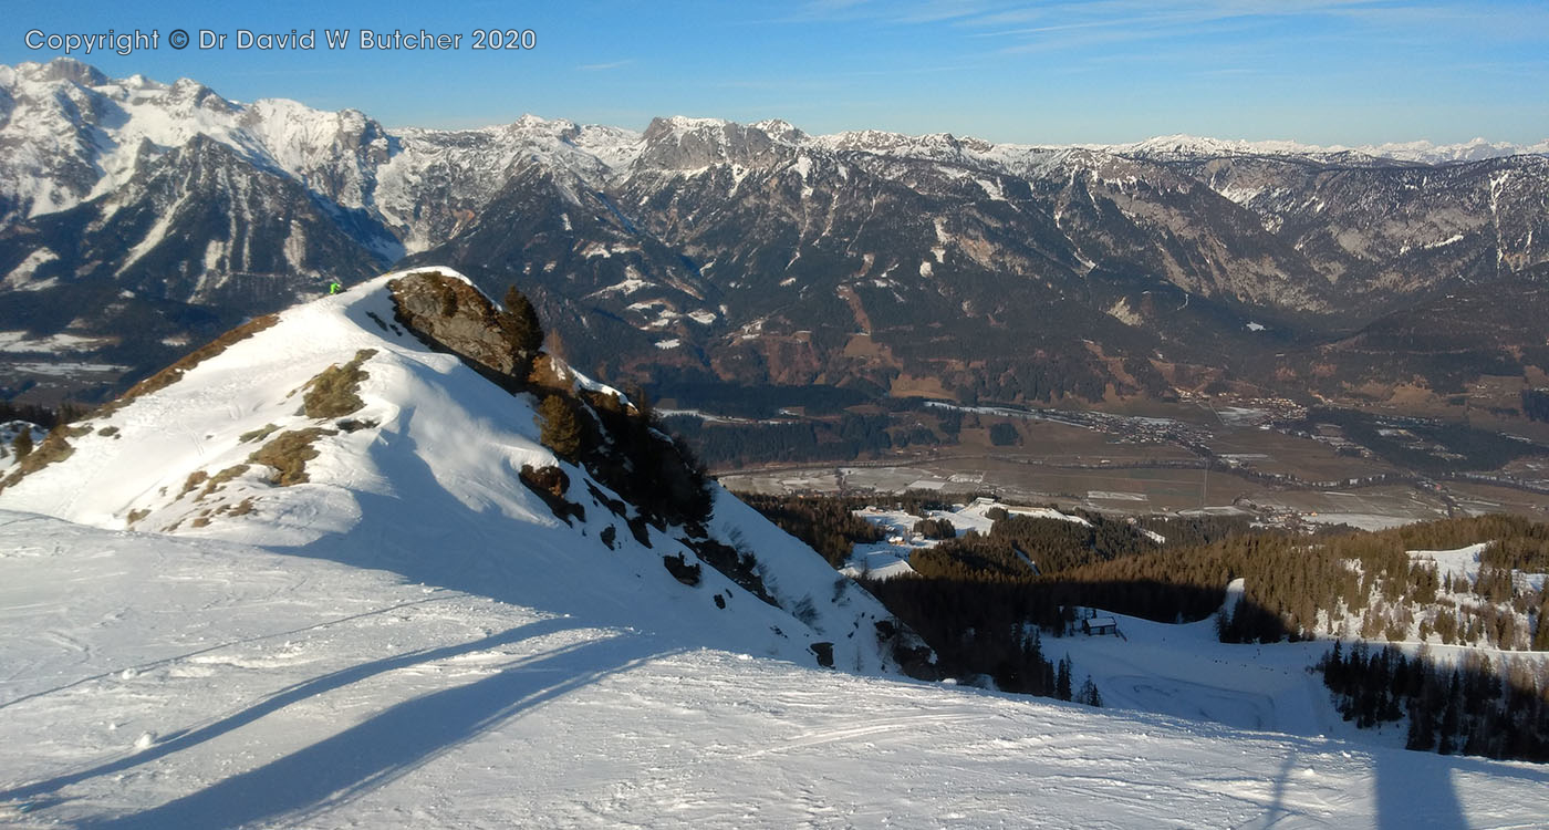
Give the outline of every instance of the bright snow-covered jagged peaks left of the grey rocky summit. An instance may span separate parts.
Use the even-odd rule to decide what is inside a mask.
[[[110,79],[70,59],[0,67],[0,90],[6,93],[0,147],[8,149],[0,158],[0,220],[53,214],[110,194],[144,164],[204,136],[339,208],[376,214],[412,242],[410,228],[435,226],[434,218],[412,214],[418,190],[438,181],[449,180],[460,201],[477,204],[524,153],[599,175],[609,169],[604,158],[627,164],[640,138],[531,116],[482,130],[389,135],[358,110],[330,113],[285,99],[239,104],[191,79]]]

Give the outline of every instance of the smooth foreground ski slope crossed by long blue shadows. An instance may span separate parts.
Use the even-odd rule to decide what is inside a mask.
[[[805,669],[17,513],[0,655],[8,827],[1549,821],[1543,767]]]

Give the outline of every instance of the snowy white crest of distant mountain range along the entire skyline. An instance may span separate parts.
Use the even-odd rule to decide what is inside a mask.
[[[559,164],[589,184],[601,184],[627,173],[637,163],[660,163],[657,156],[641,159],[651,149],[682,146],[685,138],[694,136],[706,152],[713,147],[723,152],[745,144],[737,136],[750,130],[770,146],[985,161],[1070,149],[1194,159],[1360,153],[1424,164],[1549,153],[1549,139],[1523,146],[1484,138],[1442,146],[1413,141],[1345,147],[1187,135],[1077,146],[993,144],[948,133],[909,136],[881,130],[810,136],[778,119],[740,125],[685,116],[657,119],[644,133],[531,115],[477,130],[390,132],[359,110],[324,111],[287,99],[239,104],[197,81],[161,84],[139,74],[110,79],[67,57],[0,67],[0,90],[6,93],[0,99],[0,147],[8,150],[0,159],[0,204],[8,212],[0,220],[57,212],[112,192],[132,178],[147,155],[180,147],[195,135],[228,144],[259,166],[285,172],[344,208],[375,206],[398,228],[415,225],[415,189],[428,184],[431,170],[454,177],[459,186],[485,183],[482,195],[488,197],[499,175],[525,155]],[[477,190],[465,194],[469,203],[477,203],[479,197]],[[407,246],[410,251],[420,248],[423,243]]]

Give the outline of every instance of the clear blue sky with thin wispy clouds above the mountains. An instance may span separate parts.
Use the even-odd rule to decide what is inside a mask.
[[[1366,144],[1549,138],[1546,0],[815,0],[568,3],[5,0],[0,63],[25,34],[173,28],[225,50],[76,54],[113,76],[195,77],[226,98],[355,107],[387,125],[522,113],[644,127],[657,115],[784,118],[993,141],[1154,135]],[[218,8],[217,8],[218,6]],[[330,51],[324,28],[352,29]],[[359,29],[462,34],[451,51],[362,51]],[[531,29],[476,51],[474,29]],[[314,51],[235,50],[237,29],[318,29]]]

